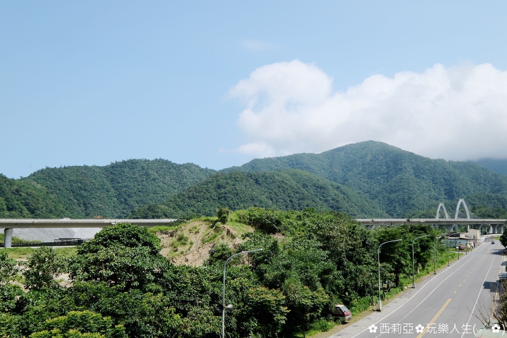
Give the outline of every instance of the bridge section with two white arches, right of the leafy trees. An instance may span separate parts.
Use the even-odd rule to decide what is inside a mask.
[[[461,211],[461,206],[464,212]],[[444,217],[441,217],[442,212]],[[433,226],[446,226],[447,230],[451,232],[455,230],[458,224],[461,224],[466,225],[467,229],[473,228],[482,232],[482,228],[485,228],[488,234],[501,234],[507,219],[481,219],[469,211],[465,201],[460,199],[456,205],[454,218],[449,217],[444,204],[440,203],[435,218],[361,218],[357,221],[369,229],[381,226],[400,226],[402,224],[431,224]]]

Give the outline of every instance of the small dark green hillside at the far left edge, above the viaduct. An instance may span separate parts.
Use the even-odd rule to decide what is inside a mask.
[[[45,187],[0,174],[0,218],[62,218],[72,215]]]

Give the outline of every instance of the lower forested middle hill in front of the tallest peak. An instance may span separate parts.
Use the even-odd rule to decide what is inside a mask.
[[[276,210],[345,212],[354,217],[386,217],[375,202],[361,193],[303,170],[218,173],[163,203],[136,209],[132,217],[214,215],[218,206],[233,210],[252,206]]]

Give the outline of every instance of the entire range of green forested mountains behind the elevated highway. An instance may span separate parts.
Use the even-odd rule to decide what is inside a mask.
[[[161,159],[41,169],[19,180],[3,177],[0,217],[177,217],[211,214],[220,205],[434,217],[440,202],[453,210],[460,198],[481,216],[507,210],[507,175],[375,141],[216,173]]]

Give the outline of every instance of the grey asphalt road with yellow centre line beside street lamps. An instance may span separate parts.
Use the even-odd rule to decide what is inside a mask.
[[[498,297],[498,274],[505,272],[503,246],[484,243],[461,254],[450,267],[416,283],[375,312],[332,335],[334,338],[390,336],[475,337],[483,326],[477,316],[490,316]],[[502,333],[502,330],[500,330]],[[507,330],[502,335],[507,337]]]

